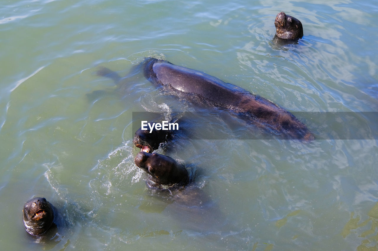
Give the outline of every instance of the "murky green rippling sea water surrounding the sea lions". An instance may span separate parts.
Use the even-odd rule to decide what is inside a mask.
[[[280,11],[302,21],[297,44],[273,43]],[[372,0],[3,0],[1,249],[378,250],[377,13]],[[192,121],[205,136],[189,121],[166,153],[195,170],[186,196],[204,207],[150,190],[133,112],[195,104],[140,72],[122,86],[95,74],[125,76],[149,56],[297,112],[316,140],[264,138],[210,112]],[[342,112],[361,121],[325,119]],[[36,196],[64,219],[45,243],[22,225]]]

